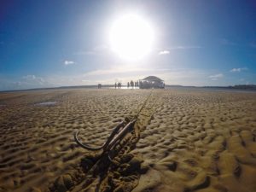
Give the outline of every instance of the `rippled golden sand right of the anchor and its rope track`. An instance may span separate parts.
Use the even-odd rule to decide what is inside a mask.
[[[137,191],[256,189],[255,94],[166,91],[141,133]]]

